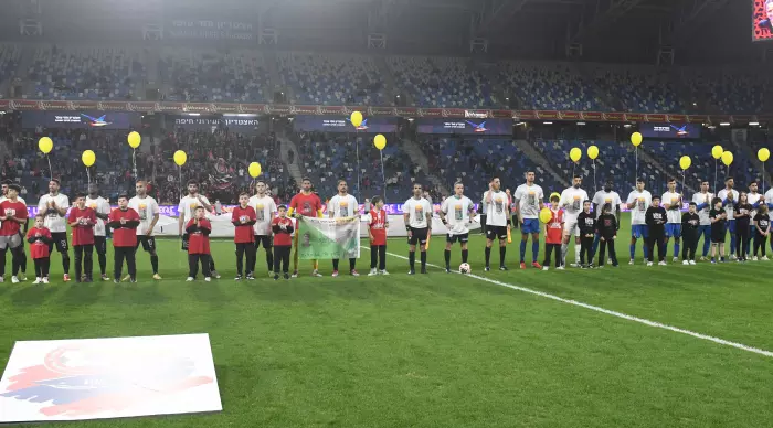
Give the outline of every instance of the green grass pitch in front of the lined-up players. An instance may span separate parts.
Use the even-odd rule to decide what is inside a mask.
[[[484,274],[484,240],[470,240],[475,275],[773,350],[773,261],[645,267],[640,243],[628,266]],[[430,263],[443,265],[442,237]],[[702,244],[701,244],[702,245]],[[699,245],[699,254],[701,245]],[[530,245],[527,260],[530,260]],[[274,281],[258,254],[258,279],[234,282],[233,244],[213,243],[223,278],[184,282],[176,240],[159,240],[162,281],[138,253],[139,283],[0,285],[0,366],[14,341],[210,334],[222,413],[64,427],[770,427],[773,359],[512,290],[474,277],[301,277]],[[403,239],[388,252],[407,255]],[[542,246],[540,246],[542,252]],[[670,254],[670,247],[669,247]],[[112,256],[108,258],[110,265]],[[498,261],[498,253],[493,253]],[[541,261],[542,256],[540,256]],[[570,260],[573,252],[570,252]],[[453,252],[453,265],[459,264]],[[10,265],[10,263],[9,263]],[[96,265],[96,260],[95,260]],[[346,263],[345,263],[346,265]],[[494,266],[497,264],[494,263]],[[30,264],[30,270],[32,266]]]

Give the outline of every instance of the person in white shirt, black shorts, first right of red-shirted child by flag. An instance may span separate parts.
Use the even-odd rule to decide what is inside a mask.
[[[426,274],[426,242],[432,234],[432,205],[422,196],[422,185],[413,183],[413,196],[403,205],[403,221],[407,232],[409,275],[415,275],[416,244],[420,245],[422,274]],[[504,194],[504,193],[502,193]]]

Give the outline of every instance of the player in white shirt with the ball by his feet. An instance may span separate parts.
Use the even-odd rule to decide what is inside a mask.
[[[441,221],[448,229],[445,238],[445,271],[451,274],[451,247],[458,240],[462,247],[462,263],[467,263],[467,242],[469,242],[469,223],[475,216],[475,204],[464,195],[464,184],[454,184],[454,195],[441,204]]]

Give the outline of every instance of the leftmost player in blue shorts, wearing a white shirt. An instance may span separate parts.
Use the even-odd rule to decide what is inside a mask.
[[[520,268],[526,269],[526,244],[531,235],[531,266],[541,269],[537,257],[540,253],[540,210],[544,207],[544,193],[542,188],[534,184],[534,172],[527,171],[526,183],[516,189],[516,194],[512,197],[516,205],[516,215],[518,224],[521,227],[521,264]]]

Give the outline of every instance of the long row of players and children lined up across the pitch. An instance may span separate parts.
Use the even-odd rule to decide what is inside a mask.
[[[554,257],[554,266],[563,270],[572,237],[574,237],[574,263],[571,267],[603,267],[605,263],[618,266],[615,242],[620,231],[621,211],[631,211],[632,228],[629,242],[629,264],[635,264],[636,247],[643,240],[643,255],[647,266],[666,265],[668,246],[673,243],[673,263],[681,258],[682,265],[695,265],[699,240],[703,239],[699,260],[723,263],[767,260],[766,244],[770,234],[769,208],[773,206],[773,189],[764,195],[758,193],[758,184],[752,183],[749,192],[734,189],[734,181],[728,178],[724,188],[716,195],[709,192],[709,182],[702,181],[700,191],[695,193],[682,212],[685,197],[677,192],[675,180],[668,182],[668,191],[661,196],[652,195],[643,180],[636,181],[635,189],[623,202],[607,182],[593,199],[582,189],[582,178],[575,175],[572,185],[561,194],[548,197],[540,185],[534,183],[534,172],[527,172],[526,182],[516,189],[512,196],[501,190],[501,182],[495,176],[480,201],[480,213],[476,204],[465,196],[463,183],[454,185],[454,194],[445,199],[440,208],[440,218],[447,228],[444,250],[445,270],[451,272],[451,258],[454,244],[459,244],[462,265],[459,271],[470,271],[468,265],[468,240],[470,225],[476,214],[486,238],[484,270],[490,270],[491,248],[498,242],[499,269],[508,270],[507,244],[511,242],[511,228],[521,229],[520,268],[526,269],[526,249],[531,239],[531,266],[548,270]],[[137,181],[136,195],[118,196],[118,207],[110,208],[108,201],[99,195],[97,185],[91,184],[87,193],[77,193],[71,207],[70,199],[60,193],[60,181],[49,183],[49,193],[40,199],[38,215],[31,227],[28,226],[25,202],[19,197],[20,186],[12,182],[2,184],[0,199],[0,281],[6,274],[7,253],[11,253],[11,281],[25,280],[28,256],[24,240],[34,264],[35,281],[50,283],[50,257],[54,249],[62,256],[63,281],[71,280],[70,237],[74,249],[75,281],[93,281],[93,254],[96,250],[102,280],[136,282],[136,253],[140,245],[150,257],[152,278],[160,280],[159,257],[156,252],[155,227],[159,221],[159,205],[147,194],[147,183]],[[420,252],[420,272],[426,274],[427,247],[432,235],[433,206],[422,196],[423,186],[413,185],[413,196],[403,205],[403,217],[409,245],[409,274],[415,275],[416,249]],[[348,193],[346,181],[338,182],[338,194],[327,204],[330,218],[363,217],[368,223],[368,237],[371,249],[369,276],[389,275],[386,271],[386,238],[389,216],[384,201],[375,196],[370,202],[364,216],[359,214],[357,199]],[[195,182],[188,183],[188,194],[180,200],[178,207],[178,233],[182,249],[188,253],[188,281],[195,280],[199,266],[204,280],[220,278],[210,247],[212,224],[207,213],[213,206],[207,196],[199,193]],[[290,278],[290,255],[293,254],[292,277],[298,277],[298,235],[294,234],[293,217],[321,217],[321,200],[313,192],[309,179],[304,179],[301,189],[288,206],[277,206],[267,194],[263,181],[255,184],[255,194],[242,193],[239,206],[231,213],[234,225],[236,255],[235,280],[255,279],[257,252],[263,247],[268,276],[278,280]],[[71,233],[67,233],[67,227]],[[113,231],[114,269],[107,271],[107,236]],[[540,235],[544,232],[544,259],[538,261]],[[730,234],[730,254],[726,254],[726,237]],[[773,242],[771,242],[773,249]],[[293,253],[293,249],[295,252]],[[657,252],[657,260],[655,259]],[[608,257],[607,257],[608,256]],[[597,263],[594,259],[597,257]],[[339,276],[338,259],[331,260],[332,276]],[[357,258],[349,260],[349,274],[359,276]],[[313,260],[311,276],[320,277],[319,260]],[[123,277],[126,265],[127,274]]]

